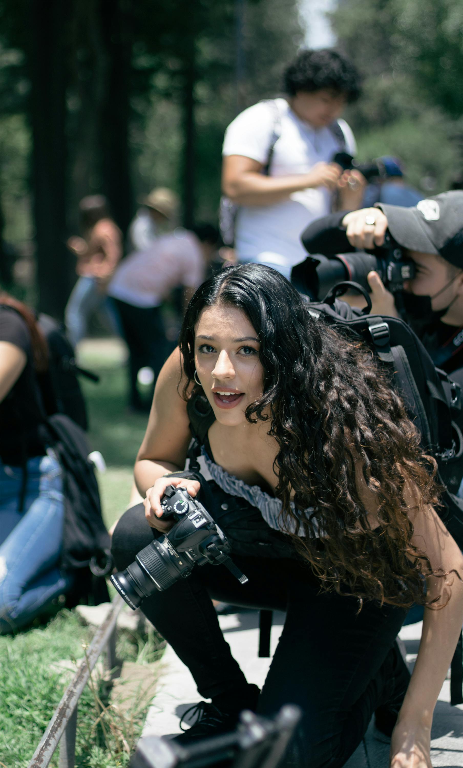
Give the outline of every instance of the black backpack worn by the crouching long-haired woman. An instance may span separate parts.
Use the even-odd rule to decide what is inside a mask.
[[[456,496],[463,477],[461,388],[444,371],[435,368],[418,336],[404,320],[359,314],[359,310],[337,300],[336,294],[346,287],[358,288],[356,283],[339,283],[324,303],[308,302],[309,313],[348,329],[353,338],[362,339],[391,369],[395,388],[422,434],[422,447],[438,463],[438,478],[446,488],[438,515],[463,549],[463,499]]]

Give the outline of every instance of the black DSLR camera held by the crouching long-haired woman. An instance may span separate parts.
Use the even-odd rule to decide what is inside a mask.
[[[135,610],[154,591],[164,591],[180,578],[190,575],[193,565],[223,564],[240,584],[248,579],[228,556],[230,544],[209,512],[185,488],[167,485],[160,502],[163,520],[176,525],[138,552],[125,571],[111,581],[125,602]]]

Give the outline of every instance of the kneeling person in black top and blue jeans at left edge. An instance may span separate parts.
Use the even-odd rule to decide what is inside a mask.
[[[20,629],[71,590],[59,559],[61,467],[41,439],[38,376],[48,348],[30,310],[0,296],[0,632]]]

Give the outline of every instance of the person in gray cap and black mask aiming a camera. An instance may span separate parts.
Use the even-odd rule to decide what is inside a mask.
[[[327,243],[332,253],[348,253],[382,246],[386,230],[415,262],[415,276],[403,283],[406,318],[435,366],[463,386],[463,191],[411,208],[379,203],[332,214],[313,223],[303,240],[310,253],[327,253]],[[370,272],[368,282],[371,313],[399,316],[379,274]]]

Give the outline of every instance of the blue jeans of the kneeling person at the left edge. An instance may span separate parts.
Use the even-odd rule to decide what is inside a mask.
[[[71,577],[58,568],[64,523],[61,468],[47,455],[40,459],[39,472],[37,497],[0,547],[2,631],[28,624],[71,586]]]

